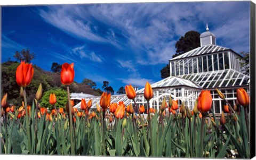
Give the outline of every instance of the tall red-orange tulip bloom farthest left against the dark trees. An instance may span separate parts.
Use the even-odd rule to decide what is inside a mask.
[[[32,64],[21,61],[16,70],[16,81],[20,87],[26,87],[31,82],[34,75],[34,68]]]

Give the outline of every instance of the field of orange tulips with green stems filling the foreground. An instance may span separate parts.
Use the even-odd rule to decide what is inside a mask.
[[[153,89],[145,82],[147,105],[135,103],[136,92],[125,86],[133,104],[111,103],[111,95],[103,92],[97,110],[92,101],[82,99],[81,108],[73,108],[69,85],[74,80],[74,63],[62,64],[61,83],[67,86],[68,101],[53,110],[40,105],[42,85],[35,100],[27,104],[26,86],[33,80],[31,64],[21,62],[16,71],[23,103],[9,106],[8,93],[1,101],[0,154],[79,155],[125,157],[186,157],[186,158],[250,158],[250,98],[243,88],[237,89],[237,104],[226,102],[220,116],[212,111],[212,96],[202,90],[193,111],[177,100],[164,98],[161,108],[153,110],[149,100]],[[179,112],[177,112],[179,110]],[[135,111],[138,111],[135,113]]]

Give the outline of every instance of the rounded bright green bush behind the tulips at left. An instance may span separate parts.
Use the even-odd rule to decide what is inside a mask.
[[[55,94],[57,98],[57,103],[55,104],[56,108],[65,107],[68,102],[68,94],[66,90],[63,89],[51,89],[46,92],[44,92],[44,95],[42,97],[41,101],[41,107],[49,107],[50,109],[53,109],[54,107],[49,103],[49,97],[50,94]]]

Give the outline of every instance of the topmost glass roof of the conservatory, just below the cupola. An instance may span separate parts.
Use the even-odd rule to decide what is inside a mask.
[[[205,45],[205,46],[190,50],[189,52],[186,52],[177,57],[174,57],[170,61],[178,60],[180,58],[186,58],[186,57],[190,57],[190,56],[197,56],[197,55],[202,55],[202,54],[210,54],[210,53],[214,53],[214,52],[220,52],[220,51],[228,50],[228,49],[229,48],[221,47],[221,46],[217,46],[217,45]]]

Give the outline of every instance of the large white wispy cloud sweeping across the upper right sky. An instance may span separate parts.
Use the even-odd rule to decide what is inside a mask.
[[[135,63],[154,65],[168,63],[179,37],[190,30],[204,31],[199,27],[206,23],[217,36],[217,43],[218,39],[224,43],[218,45],[228,45],[237,52],[246,49],[246,9],[241,2],[95,4],[54,6],[40,15],[70,35],[129,49]]]

